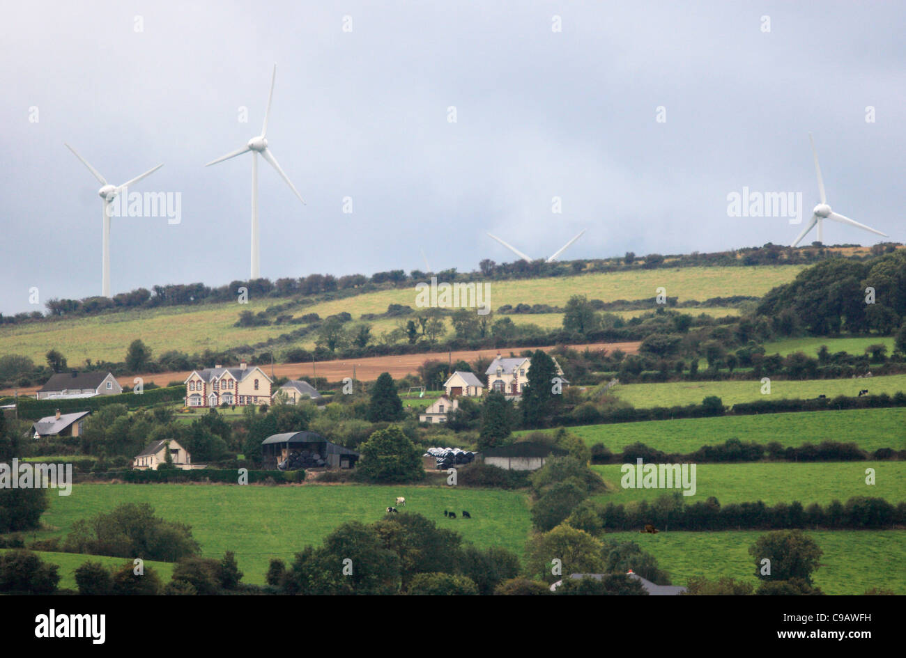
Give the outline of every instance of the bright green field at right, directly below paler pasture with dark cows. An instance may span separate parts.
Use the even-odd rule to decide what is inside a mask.
[[[906,408],[804,411],[789,414],[725,415],[716,418],[681,418],[641,423],[580,425],[567,428],[588,445],[603,443],[620,453],[631,443],[645,443],[665,453],[692,453],[702,445],[728,439],[772,441],[786,446],[838,441],[856,443],[863,450],[906,450]],[[516,434],[526,434],[527,431]]]

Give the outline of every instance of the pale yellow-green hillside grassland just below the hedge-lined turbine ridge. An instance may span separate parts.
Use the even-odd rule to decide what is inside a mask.
[[[497,309],[504,304],[549,304],[564,306],[574,294],[603,301],[653,298],[655,289],[664,286],[670,297],[679,300],[707,300],[732,295],[761,296],[781,283],[792,281],[803,269],[800,265],[759,267],[708,267],[670,270],[634,270],[631,272],[594,273],[580,276],[491,281],[490,304]],[[383,313],[391,303],[415,308],[414,286],[405,289],[370,292],[355,297],[324,301],[295,310],[295,316],[318,313],[322,318],[347,311],[353,319],[362,313]],[[188,354],[206,348],[223,350],[239,345],[252,345],[296,329],[297,325],[236,328],[240,311],[254,313],[288,301],[281,298],[249,300],[247,304],[219,303],[198,307],[172,307],[151,310],[129,310],[92,318],[59,319],[0,328],[0,354],[20,354],[35,363],[43,363],[44,354],[57,348],[71,366],[86,358],[95,361],[120,362],[133,339],[142,339],[154,355],[169,349]],[[694,312],[693,312],[694,311]],[[689,310],[698,315],[702,310]],[[717,315],[718,310],[707,310]],[[636,311],[631,311],[634,313]],[[641,312],[641,311],[639,311]],[[729,312],[729,311],[728,311]],[[560,325],[559,314],[545,316],[509,316],[515,322],[531,322],[547,329]],[[372,335],[395,327],[396,319],[374,323]],[[301,345],[311,345],[311,339]]]

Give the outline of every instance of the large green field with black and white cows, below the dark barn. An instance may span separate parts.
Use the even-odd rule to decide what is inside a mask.
[[[245,580],[263,584],[271,558],[292,561],[307,544],[348,520],[370,523],[397,496],[441,527],[456,529],[477,546],[504,546],[522,557],[530,520],[524,493],[428,486],[229,486],[204,484],[75,484],[70,496],[51,498],[47,529],[26,539],[64,536],[72,523],[127,502],[148,502],[158,516],[192,527],[205,557],[236,552]],[[447,520],[444,510],[468,510],[472,519]],[[77,565],[76,565],[77,566]]]

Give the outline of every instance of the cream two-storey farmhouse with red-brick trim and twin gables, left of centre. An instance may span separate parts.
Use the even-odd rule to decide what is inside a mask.
[[[186,406],[270,405],[271,378],[260,367],[207,367],[186,379]]]

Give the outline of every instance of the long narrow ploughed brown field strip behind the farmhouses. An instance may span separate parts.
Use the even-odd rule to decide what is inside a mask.
[[[608,352],[612,352],[615,349],[620,349],[626,354],[635,354],[639,351],[639,341],[632,341],[628,343],[590,343],[588,345],[570,345],[570,348],[575,348],[580,351],[589,349],[591,351],[599,351],[601,349],[606,349]],[[546,346],[540,349],[553,349],[554,346]],[[467,349],[462,351],[455,352],[420,352],[419,354],[402,354],[398,356],[390,357],[366,357],[366,358],[356,358],[356,359],[335,359],[333,361],[317,361],[314,363],[314,366],[311,363],[278,363],[274,365],[274,376],[275,377],[289,377],[290,379],[296,379],[304,375],[314,375],[318,377],[327,377],[328,381],[336,382],[342,380],[343,377],[352,377],[352,368],[355,367],[355,378],[360,381],[372,381],[377,379],[382,372],[389,372],[390,376],[394,379],[400,377],[405,377],[406,375],[415,375],[418,373],[419,366],[421,366],[425,361],[429,360],[438,360],[438,361],[447,361],[451,359],[454,363],[457,361],[474,361],[479,357],[494,358],[497,355],[497,352],[500,352],[504,357],[508,357],[510,352],[514,354],[519,354],[519,352],[528,349],[528,348],[487,348],[487,349]],[[539,348],[532,348],[539,349]],[[270,366],[261,366],[261,369],[270,376],[271,367]],[[185,381],[188,379],[188,376],[191,374],[190,370],[184,372],[162,372],[154,373],[147,375],[140,375],[145,384],[154,383],[158,386],[167,386],[169,382],[172,381]],[[126,377],[117,377],[117,381],[120,382],[121,386],[133,386],[133,379],[136,376],[127,375]],[[19,395],[34,395],[34,392],[38,390],[41,386],[32,386],[30,388],[19,388]],[[0,395],[13,395],[14,389],[6,388],[0,390]]]

